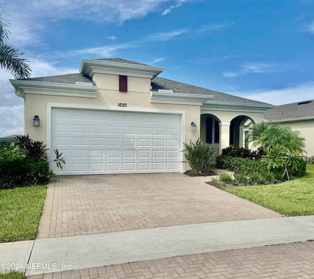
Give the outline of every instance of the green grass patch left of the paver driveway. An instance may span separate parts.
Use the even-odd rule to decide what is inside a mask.
[[[0,242],[35,239],[47,186],[0,190]]]

